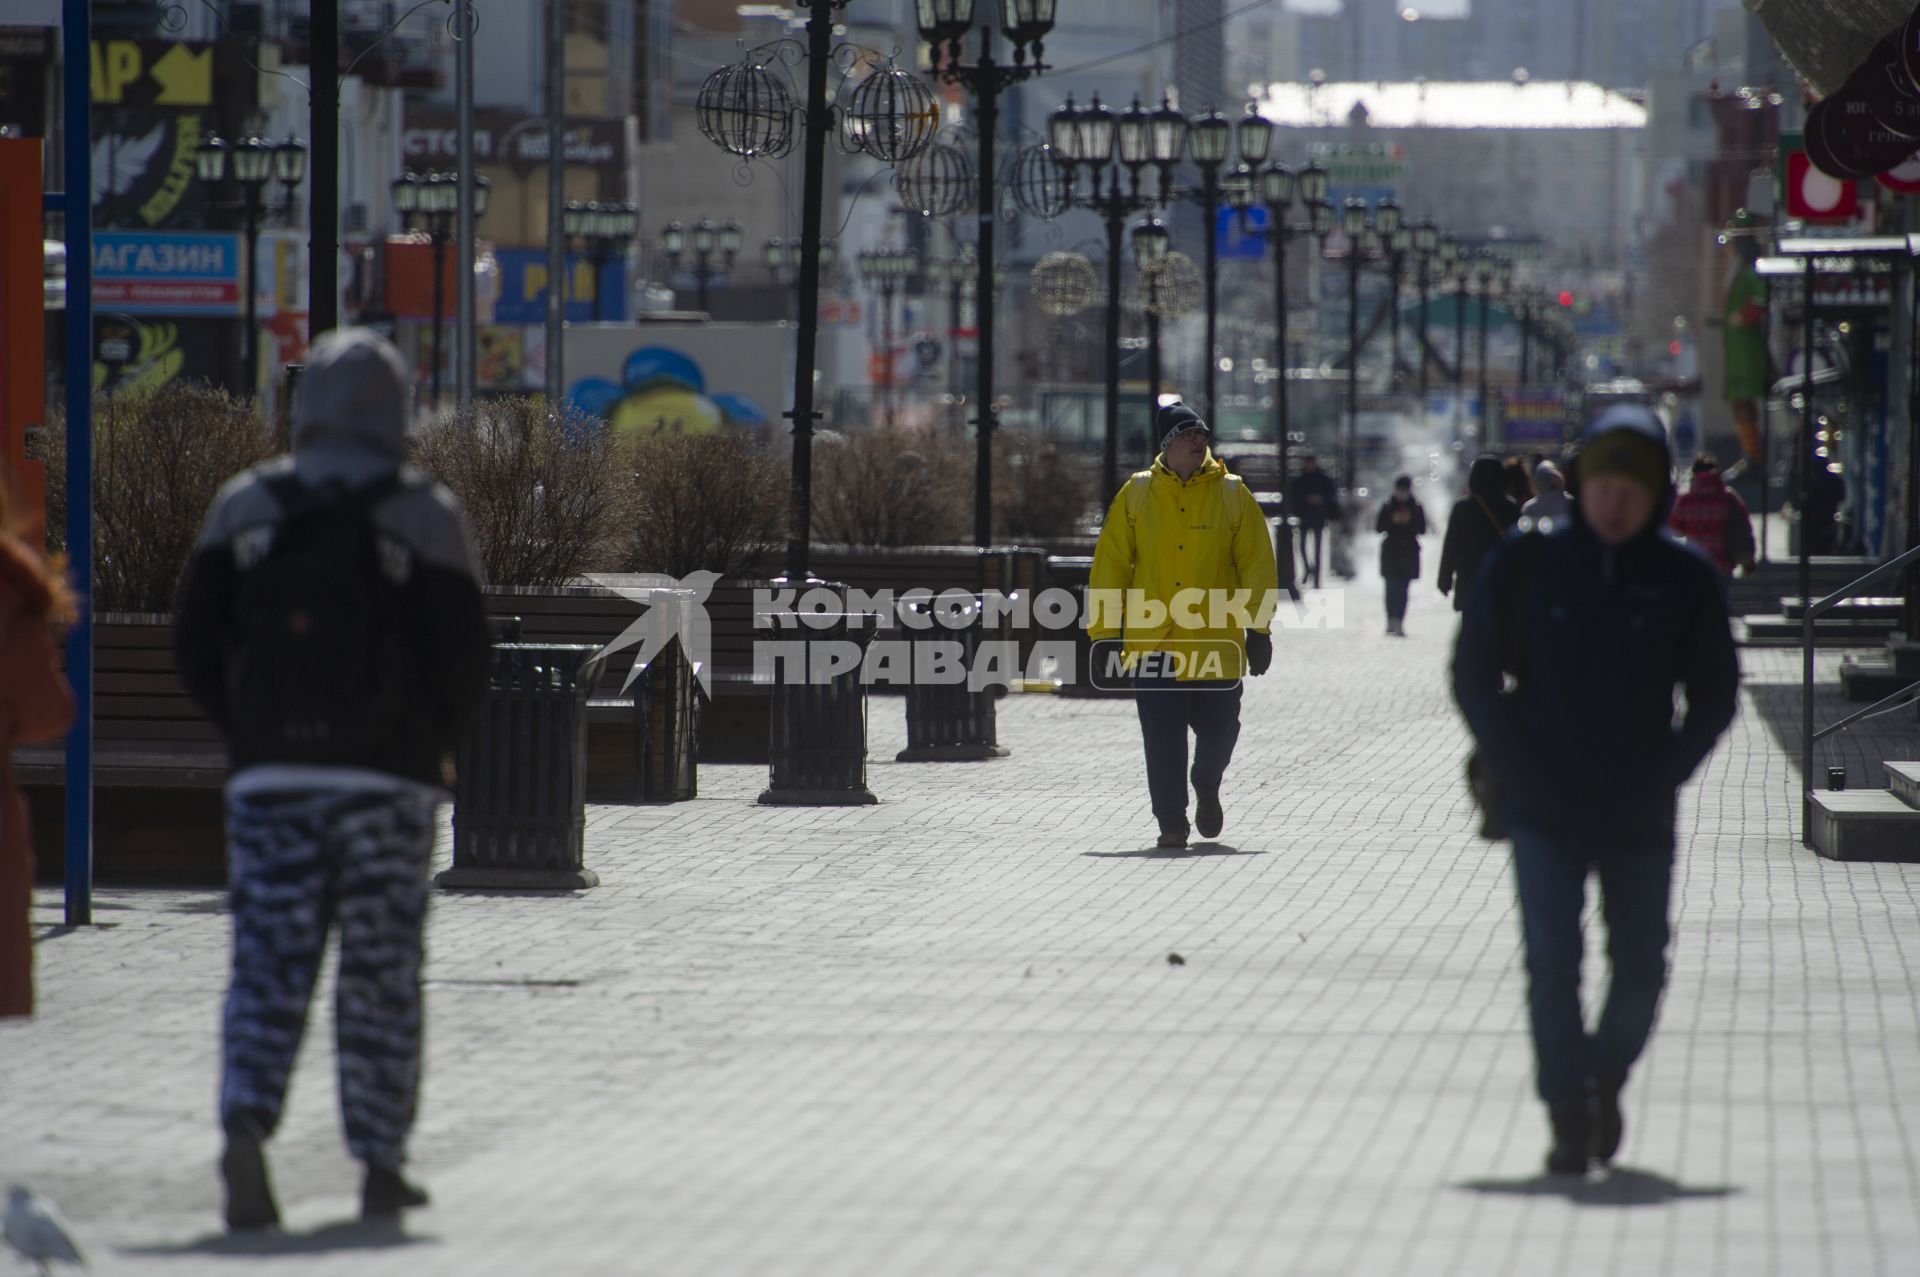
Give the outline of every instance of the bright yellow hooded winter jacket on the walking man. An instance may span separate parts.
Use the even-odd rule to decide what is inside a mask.
[[[1129,655],[1185,653],[1160,659],[1175,678],[1240,678],[1244,632],[1267,634],[1277,599],[1273,540],[1246,484],[1212,453],[1185,482],[1156,457],[1106,511],[1085,624],[1094,639],[1123,636]]]

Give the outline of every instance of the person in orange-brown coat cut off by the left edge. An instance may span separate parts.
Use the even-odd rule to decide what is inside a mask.
[[[33,820],[13,747],[73,726],[73,689],[54,661],[54,626],[73,620],[73,593],[8,526],[0,501],[0,1020],[33,1014]]]

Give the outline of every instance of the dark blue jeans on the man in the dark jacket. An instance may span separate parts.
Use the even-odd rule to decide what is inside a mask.
[[[1624,1079],[1653,1033],[1667,985],[1670,851],[1578,847],[1532,830],[1513,831],[1513,878],[1526,939],[1526,1000],[1534,1025],[1540,1098],[1578,1100],[1590,1079]],[[1580,910],[1586,876],[1599,874],[1607,922],[1607,1002],[1588,1033],[1580,1012]]]

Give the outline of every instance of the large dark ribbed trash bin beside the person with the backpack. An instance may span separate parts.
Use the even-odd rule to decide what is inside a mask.
[[[586,868],[588,695],[605,655],[495,643],[480,720],[455,755],[451,889],[572,891]]]

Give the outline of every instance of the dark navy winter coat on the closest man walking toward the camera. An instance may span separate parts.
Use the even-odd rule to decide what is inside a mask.
[[[1594,855],[1672,851],[1674,791],[1732,722],[1740,666],[1718,572],[1661,515],[1609,547],[1576,501],[1563,528],[1507,540],[1465,591],[1453,697],[1511,828]]]

